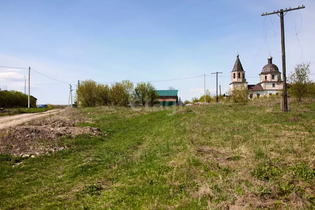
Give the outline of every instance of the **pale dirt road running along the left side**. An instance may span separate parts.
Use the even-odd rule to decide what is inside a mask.
[[[50,115],[56,112],[61,111],[60,109],[55,110],[49,110],[41,113],[32,113],[32,114],[20,114],[20,115],[14,115],[14,116],[6,116],[6,117],[0,117],[0,129],[8,128],[10,126],[18,125],[22,122],[27,122],[31,119],[42,117],[46,115]]]

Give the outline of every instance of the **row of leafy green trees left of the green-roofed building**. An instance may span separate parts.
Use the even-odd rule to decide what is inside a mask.
[[[131,103],[153,106],[158,95],[150,82],[137,83],[134,86],[129,80],[123,80],[109,86],[85,80],[77,85],[75,98],[80,107],[129,106]]]

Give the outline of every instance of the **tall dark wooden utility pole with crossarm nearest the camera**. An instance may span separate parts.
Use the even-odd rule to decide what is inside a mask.
[[[270,15],[270,14],[277,14],[280,17],[280,24],[281,24],[281,48],[282,48],[282,74],[283,74],[283,96],[284,96],[284,111],[288,111],[288,93],[287,93],[287,77],[286,77],[286,71],[285,71],[285,47],[284,47],[284,15],[287,14],[287,12],[296,10],[296,9],[304,9],[305,7],[302,5],[302,7],[297,7],[291,9],[285,8],[285,10],[280,9],[277,12],[273,10],[271,13],[263,13],[261,16]],[[283,14],[285,12],[285,14]]]

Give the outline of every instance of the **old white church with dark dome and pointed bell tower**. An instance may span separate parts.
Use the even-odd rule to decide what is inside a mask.
[[[236,55],[236,61],[231,71],[231,83],[230,91],[235,87],[244,85],[249,90],[249,98],[259,98],[261,96],[278,95],[279,90],[283,87],[283,81],[281,80],[281,73],[278,66],[272,63],[272,57],[268,57],[268,64],[262,68],[259,74],[260,81],[256,85],[249,85],[245,79],[245,71],[242,67],[241,61]]]

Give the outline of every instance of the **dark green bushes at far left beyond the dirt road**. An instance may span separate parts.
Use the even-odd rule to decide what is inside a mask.
[[[31,107],[36,107],[36,100],[32,97],[30,97],[30,105]],[[1,91],[0,107],[1,108],[28,107],[28,95],[15,90]]]

